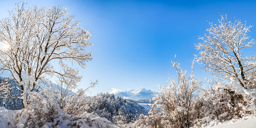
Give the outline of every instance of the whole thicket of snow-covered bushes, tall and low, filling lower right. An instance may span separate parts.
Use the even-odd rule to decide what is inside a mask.
[[[216,83],[202,89],[194,74],[186,77],[179,64],[174,63],[178,82],[170,80],[155,94],[156,102],[149,115],[140,115],[135,128],[205,127],[212,121],[223,122],[256,113],[256,89],[247,90],[231,78],[230,83]],[[193,96],[199,92],[197,97]]]

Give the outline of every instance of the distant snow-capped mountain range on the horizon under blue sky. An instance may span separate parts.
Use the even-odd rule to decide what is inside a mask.
[[[115,97],[121,97],[125,99],[131,100],[142,100],[142,99],[151,99],[153,98],[153,94],[158,93],[151,90],[146,90],[145,88],[139,88],[137,90],[131,89],[129,91],[122,91],[115,94]]]

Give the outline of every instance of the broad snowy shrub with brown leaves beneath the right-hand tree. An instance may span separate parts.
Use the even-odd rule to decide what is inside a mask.
[[[195,125],[206,125],[212,120],[227,121],[254,114],[256,89],[247,90],[231,78],[228,84],[215,84],[195,98],[200,113]]]

